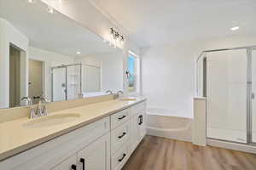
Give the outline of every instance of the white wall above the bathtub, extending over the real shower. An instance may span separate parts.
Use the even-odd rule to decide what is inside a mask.
[[[142,87],[143,95],[148,97],[148,107],[177,110],[188,117],[193,116],[195,59],[201,50],[255,44],[256,38],[252,36],[232,36],[143,48]]]

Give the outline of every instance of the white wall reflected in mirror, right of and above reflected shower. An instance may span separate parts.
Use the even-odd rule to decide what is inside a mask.
[[[123,90],[123,55],[121,52],[112,54],[92,54],[76,59],[84,65],[96,65],[102,68],[102,92]]]

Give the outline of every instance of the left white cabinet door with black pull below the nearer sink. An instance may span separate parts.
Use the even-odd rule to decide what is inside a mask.
[[[68,157],[65,161],[62,161],[59,165],[51,170],[74,170],[77,165],[76,155]]]

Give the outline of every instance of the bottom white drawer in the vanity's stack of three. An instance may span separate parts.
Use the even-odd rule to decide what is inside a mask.
[[[125,162],[130,157],[130,144],[126,142],[122,148],[120,148],[114,155],[111,157],[111,170],[120,170],[124,167]]]

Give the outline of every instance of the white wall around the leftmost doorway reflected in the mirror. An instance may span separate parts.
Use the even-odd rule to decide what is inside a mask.
[[[22,50],[20,60],[20,97],[27,96],[29,40],[7,20],[0,18],[0,108],[9,107],[9,45]]]

